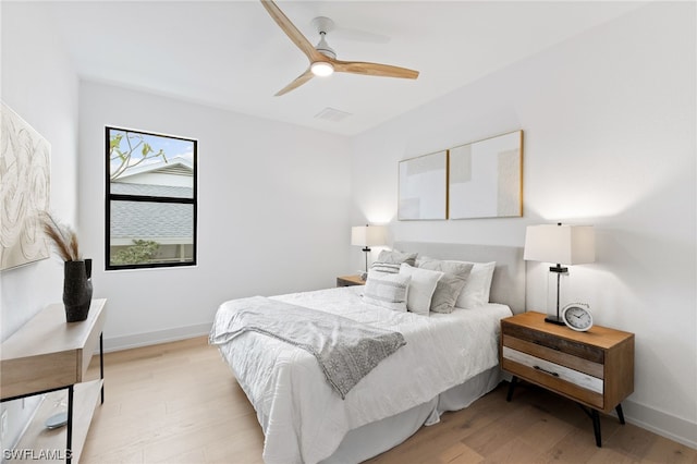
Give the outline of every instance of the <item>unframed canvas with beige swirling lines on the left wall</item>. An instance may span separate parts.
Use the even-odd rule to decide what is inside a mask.
[[[38,221],[50,195],[49,143],[0,102],[0,270],[48,258]]]

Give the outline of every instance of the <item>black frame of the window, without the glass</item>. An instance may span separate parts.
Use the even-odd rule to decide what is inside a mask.
[[[135,133],[143,135],[155,135],[158,137],[175,138],[179,141],[191,142],[194,145],[193,154],[193,192],[191,198],[184,197],[168,197],[168,196],[148,196],[148,195],[126,195],[126,194],[112,194],[111,193],[111,162],[109,159],[109,150],[111,147],[111,141],[109,137],[110,131],[122,131],[126,133]],[[137,129],[125,129],[117,126],[105,126],[105,157],[106,157],[106,228],[105,228],[105,270],[126,270],[126,269],[158,269],[158,268],[178,268],[178,267],[191,267],[196,266],[198,262],[197,256],[197,229],[198,229],[198,141],[195,138],[182,137],[176,135],[161,134],[157,132],[140,131]],[[161,204],[180,204],[193,206],[193,244],[192,244],[192,260],[191,261],[170,261],[170,262],[149,262],[137,265],[112,265],[111,264],[111,203],[112,202],[147,202],[147,203],[161,203]]]

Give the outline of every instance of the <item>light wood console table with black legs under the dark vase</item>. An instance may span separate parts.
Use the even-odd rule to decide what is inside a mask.
[[[68,390],[65,429],[60,434],[45,432],[44,420],[50,413],[50,408],[41,413],[46,410],[45,400],[35,417],[37,424],[27,428],[16,450],[38,450],[35,456],[54,453],[64,456],[68,463],[80,461],[97,401],[100,395],[101,403],[105,401],[101,332],[106,303],[106,300],[93,300],[87,319],[81,322],[65,322],[63,305],[50,305],[2,342],[0,401]],[[100,378],[85,381],[97,345]],[[63,434],[66,435],[64,450],[61,445]],[[57,453],[57,450],[63,453]]]

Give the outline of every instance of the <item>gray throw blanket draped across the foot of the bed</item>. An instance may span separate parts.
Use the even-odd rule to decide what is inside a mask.
[[[341,395],[406,341],[399,332],[367,326],[345,317],[290,303],[253,296],[227,304],[210,332],[211,344],[224,344],[255,331],[308,351],[318,361],[327,381]]]

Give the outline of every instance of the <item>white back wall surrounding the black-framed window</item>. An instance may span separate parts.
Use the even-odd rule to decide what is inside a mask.
[[[80,218],[107,297],[105,346],[207,333],[225,300],[333,286],[346,273],[341,136],[93,82],[80,87]],[[105,125],[198,139],[198,266],[105,269]]]

